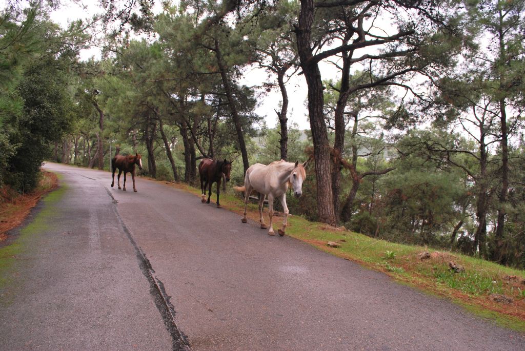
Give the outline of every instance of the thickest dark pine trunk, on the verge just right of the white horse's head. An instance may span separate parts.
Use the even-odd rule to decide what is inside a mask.
[[[299,25],[296,27],[297,49],[301,68],[308,85],[308,113],[316,164],[317,210],[319,220],[337,225],[332,196],[332,162],[327,127],[323,115],[323,87],[317,62],[312,62],[311,27],[313,23],[313,0],[301,0]]]

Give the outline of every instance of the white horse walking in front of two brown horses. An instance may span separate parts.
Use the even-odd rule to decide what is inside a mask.
[[[300,164],[299,161],[296,163],[281,161],[274,161],[269,165],[263,165],[256,163],[250,166],[244,176],[244,186],[234,187],[237,192],[245,192],[244,197],[244,217],[241,219],[243,223],[246,223],[246,208],[248,206],[248,200],[253,190],[256,190],[261,194],[259,199],[259,215],[260,224],[262,229],[266,229],[264,218],[262,218],[262,207],[264,206],[264,200],[268,195],[268,215],[270,217],[270,229],[268,235],[275,235],[274,228],[272,227],[272,217],[274,216],[274,199],[278,198],[281,200],[282,209],[285,212],[285,220],[282,222],[282,230],[279,229],[279,235],[285,235],[286,224],[288,220],[288,207],[286,206],[286,190],[288,186],[292,186],[293,195],[300,197],[302,195],[302,182],[306,179],[306,167],[308,161]]]

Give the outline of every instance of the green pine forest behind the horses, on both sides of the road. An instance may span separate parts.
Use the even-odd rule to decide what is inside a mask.
[[[67,3],[2,10],[3,189],[30,192],[44,159],[109,169],[117,150],[189,184],[202,157],[233,159],[234,184],[311,158],[293,214],[525,268],[523,0],[103,0],[62,28]]]

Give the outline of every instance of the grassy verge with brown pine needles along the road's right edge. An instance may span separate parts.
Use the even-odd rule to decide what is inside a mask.
[[[169,184],[200,196],[200,189],[186,184]],[[215,200],[214,192],[211,206],[216,206]],[[195,201],[199,202],[199,199],[196,198]],[[244,212],[243,199],[230,189],[220,193],[220,203],[223,208],[240,215]],[[259,225],[257,204],[248,204],[247,217],[255,221],[255,224],[248,222],[248,225]],[[266,206],[264,218],[268,224]],[[274,217],[275,230],[281,227],[282,219],[281,216]],[[501,326],[525,332],[525,271],[458,252],[371,238],[319,222],[310,222],[300,216],[288,217],[286,235],[335,256],[358,262],[366,268],[383,272],[394,280],[425,293],[453,301],[471,313]],[[267,236],[267,231],[261,229],[261,236]],[[340,247],[328,247],[328,241],[335,241]],[[429,252],[430,258],[421,260],[419,254],[425,251]],[[465,272],[454,273],[449,268],[449,262],[463,265]],[[493,293],[509,296],[513,302],[505,304],[492,301],[490,294]]]

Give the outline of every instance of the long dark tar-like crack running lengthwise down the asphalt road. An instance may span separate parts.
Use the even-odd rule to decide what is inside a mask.
[[[170,302],[171,296],[166,294],[164,284],[160,279],[156,278],[155,270],[151,266],[150,260],[146,258],[146,254],[138,246],[137,242],[131,235],[131,232],[129,231],[128,227],[124,224],[122,217],[120,217],[120,214],[117,210],[118,201],[113,197],[113,194],[111,194],[108,188],[106,188],[106,191],[108,192],[109,196],[113,199],[113,211],[115,212],[115,215],[119,220],[119,224],[122,227],[122,230],[124,230],[124,232],[128,236],[128,239],[130,240],[133,248],[135,249],[135,252],[137,253],[139,267],[146,279],[148,280],[148,282],[150,283],[150,295],[153,297],[153,301],[155,302],[155,306],[157,307],[162,316],[164,325],[166,326],[167,331],[172,337],[173,351],[191,351],[190,344],[187,341],[187,336],[184,335],[184,333],[175,324],[176,312],[173,304]]]

